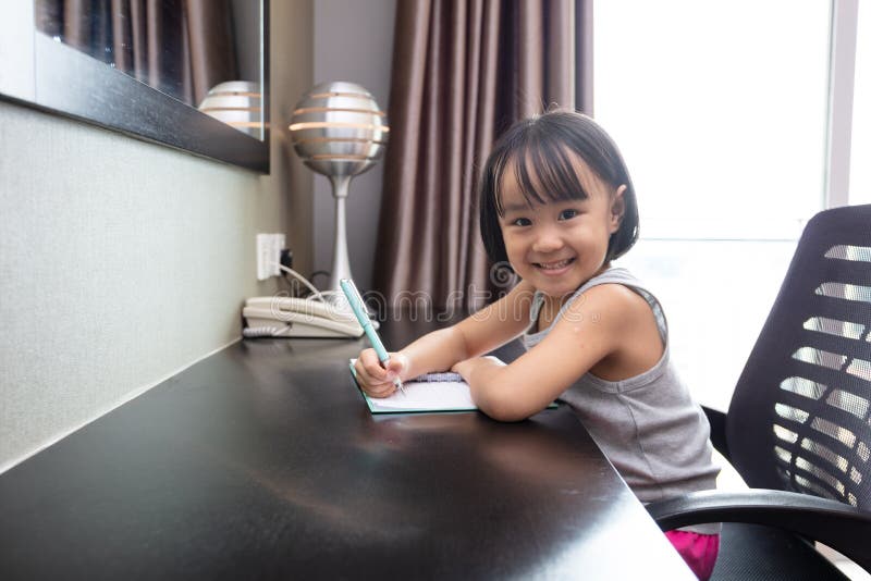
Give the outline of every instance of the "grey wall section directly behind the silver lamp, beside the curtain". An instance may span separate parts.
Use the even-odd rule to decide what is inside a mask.
[[[396,0],[317,0],[314,9],[315,83],[357,83],[387,111]],[[360,289],[371,288],[383,171],[381,161],[352,180],[347,198],[351,270]],[[329,181],[318,175],[314,197],[316,270],[332,267],[334,203]],[[322,288],[328,279],[319,276],[315,282]]]

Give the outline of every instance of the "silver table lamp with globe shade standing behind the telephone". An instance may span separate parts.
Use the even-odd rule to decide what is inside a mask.
[[[354,83],[315,86],[299,99],[291,119],[296,154],[326,175],[335,198],[335,242],[330,290],[341,302],[339,281],[353,279],[347,254],[345,199],[351,178],[375,165],[388,141],[387,115],[368,90]]]

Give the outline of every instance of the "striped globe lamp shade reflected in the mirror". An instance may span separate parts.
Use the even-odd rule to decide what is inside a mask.
[[[262,95],[257,83],[228,81],[216,85],[198,109],[243,133],[261,138]]]

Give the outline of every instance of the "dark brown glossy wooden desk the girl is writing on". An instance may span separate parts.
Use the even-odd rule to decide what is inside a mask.
[[[0,579],[695,579],[567,408],[375,418],[361,346],[244,341],[0,475]]]

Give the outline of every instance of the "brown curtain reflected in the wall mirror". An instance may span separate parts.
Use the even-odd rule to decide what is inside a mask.
[[[230,0],[37,0],[37,27],[197,106],[238,78]]]

